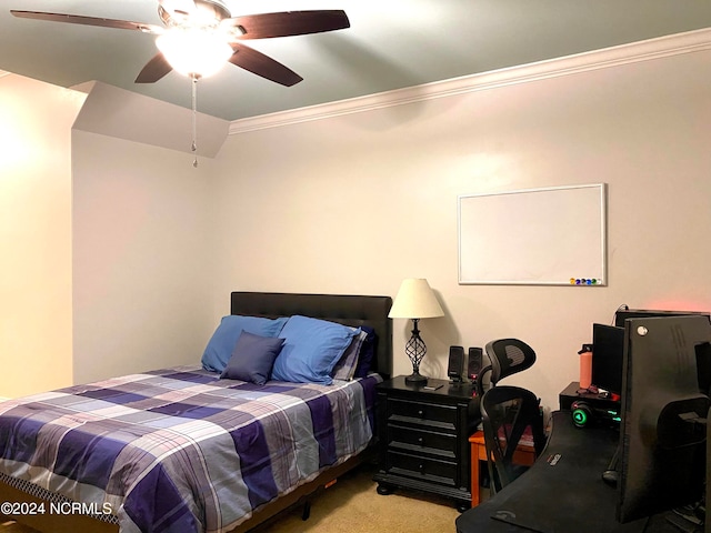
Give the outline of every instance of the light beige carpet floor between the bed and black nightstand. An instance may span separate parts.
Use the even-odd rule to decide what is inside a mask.
[[[411,491],[375,492],[375,469],[363,465],[311,499],[311,513],[301,519],[296,506],[254,533],[454,533],[459,516],[452,501]],[[36,533],[20,524],[2,524],[0,533]]]

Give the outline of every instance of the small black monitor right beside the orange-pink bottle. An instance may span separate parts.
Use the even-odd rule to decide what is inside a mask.
[[[622,355],[624,328],[592,324],[592,384],[598,389],[622,393]]]

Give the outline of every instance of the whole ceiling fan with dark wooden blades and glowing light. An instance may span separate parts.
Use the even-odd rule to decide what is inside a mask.
[[[221,0],[158,0],[163,26],[79,14],[10,10],[14,17],[73,24],[138,30],[158,36],[159,52],[143,67],[137,83],[153,83],[171,70],[193,79],[210,76],[224,62],[286,87],[303,78],[242,41],[302,36],[350,27],[342,10],[286,11],[232,17]]]

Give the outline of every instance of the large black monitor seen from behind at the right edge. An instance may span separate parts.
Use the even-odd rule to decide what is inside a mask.
[[[710,401],[697,358],[710,342],[705,316],[625,321],[618,521],[700,500]]]

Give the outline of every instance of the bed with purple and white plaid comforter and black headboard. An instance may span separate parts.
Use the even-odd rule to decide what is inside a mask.
[[[6,441],[0,442],[0,502],[11,504],[0,511],[47,533],[240,533],[253,529],[371,456],[377,428],[372,420],[374,388],[392,369],[391,303],[389,296],[231,293],[231,318],[298,315],[344,324],[363,336],[367,330],[374,332],[370,372],[352,381],[256,384],[219,380],[201,368],[181,366],[0,404],[4,413],[0,415],[0,433],[4,431],[0,440]],[[198,404],[198,396],[209,402]],[[339,398],[364,403],[343,406]],[[159,399],[162,403],[157,404]],[[83,404],[89,408],[84,410]],[[361,413],[356,418],[367,418],[370,429],[354,429],[354,409]],[[276,416],[267,415],[269,410]],[[97,411],[100,420],[94,418]],[[353,420],[340,421],[341,415]],[[322,419],[333,419],[329,422],[333,428]],[[118,429],[110,425],[113,420],[121,421]],[[124,423],[127,420],[131,423]],[[303,441],[293,439],[296,444],[283,438],[300,435],[306,431],[302,426],[313,434]],[[183,428],[189,432],[183,434]],[[137,452],[132,440],[126,445],[126,433],[149,442],[150,453],[144,447]],[[40,434],[72,439],[62,436],[40,447],[36,444]],[[274,444],[282,441],[291,446],[283,453]],[[303,450],[307,453],[301,455]],[[30,461],[32,454],[41,457]],[[108,462],[112,464],[104,464]],[[264,465],[270,476],[263,473]]]

